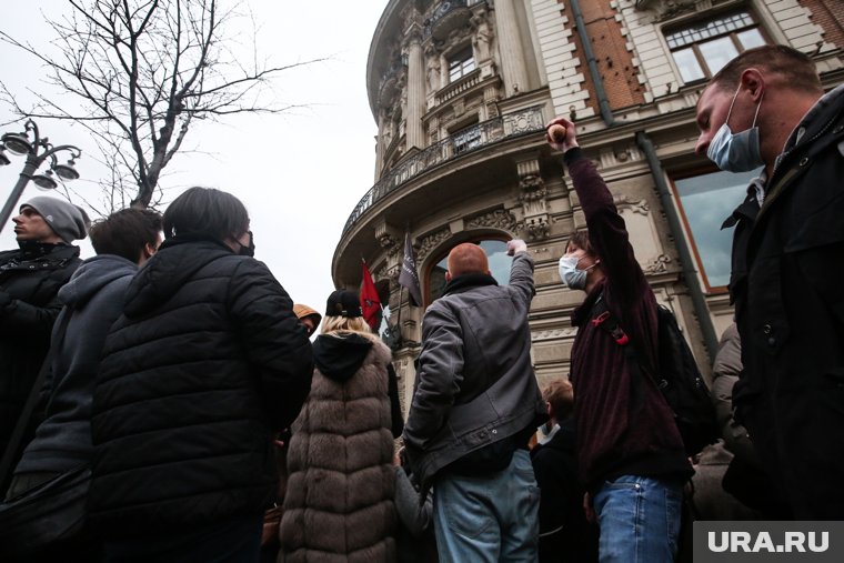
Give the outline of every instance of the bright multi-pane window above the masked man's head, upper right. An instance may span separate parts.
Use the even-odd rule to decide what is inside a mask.
[[[686,83],[712,78],[740,52],[766,42],[747,12],[694,23],[667,33],[665,40]]]

